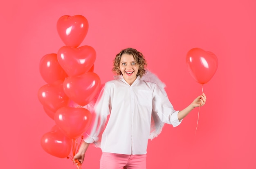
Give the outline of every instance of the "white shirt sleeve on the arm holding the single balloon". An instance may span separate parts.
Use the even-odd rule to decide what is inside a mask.
[[[173,109],[166,93],[163,93],[157,85],[153,91],[153,111],[157,113],[162,122],[173,125],[173,127],[180,125],[182,122],[178,119],[179,111]]]

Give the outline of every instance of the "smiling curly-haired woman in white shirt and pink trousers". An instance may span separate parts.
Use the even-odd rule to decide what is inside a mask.
[[[159,85],[143,80],[147,63],[141,52],[124,49],[113,63],[112,71],[119,76],[103,87],[92,125],[74,160],[82,163],[90,143],[101,141],[100,169],[146,169],[152,119],[176,127],[191,110],[205,104],[206,96],[203,93],[182,111],[175,111]]]

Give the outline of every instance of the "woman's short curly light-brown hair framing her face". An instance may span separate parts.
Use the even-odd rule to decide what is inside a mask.
[[[136,49],[133,48],[126,48],[121,50],[121,52],[119,52],[115,59],[113,60],[113,68],[112,71],[114,73],[116,73],[117,75],[121,75],[122,72],[120,70],[120,60],[121,60],[121,56],[123,54],[127,54],[127,55],[132,55],[133,58],[135,59],[136,64],[139,66],[139,70],[137,73],[137,76],[142,77],[145,73],[146,73],[146,67],[147,67],[147,61],[145,60],[143,54],[139,51],[137,51]]]

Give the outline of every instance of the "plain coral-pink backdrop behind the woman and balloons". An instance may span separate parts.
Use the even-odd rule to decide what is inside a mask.
[[[56,22],[83,15],[89,31],[81,45],[97,51],[96,72],[112,79],[112,60],[126,47],[144,53],[148,69],[166,83],[175,109],[201,94],[186,66],[186,53],[200,47],[216,54],[219,67],[204,85],[207,105],[177,128],[166,125],[149,141],[148,169],[256,168],[255,0],[9,0],[0,5],[0,168],[71,169],[40,146],[54,121],[37,91],[46,83],[39,61],[64,44]],[[99,168],[101,150],[91,146],[82,168]]]

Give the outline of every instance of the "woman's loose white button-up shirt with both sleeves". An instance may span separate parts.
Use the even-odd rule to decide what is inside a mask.
[[[155,83],[140,78],[132,85],[128,85],[124,78],[106,82],[95,104],[92,125],[84,141],[99,141],[106,125],[101,138],[103,152],[146,154],[153,111],[162,122],[173,127],[180,125],[178,111],[173,109],[168,97]]]

